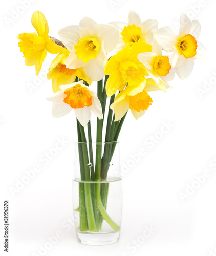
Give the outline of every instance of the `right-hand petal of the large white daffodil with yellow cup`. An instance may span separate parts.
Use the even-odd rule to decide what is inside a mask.
[[[102,28],[101,39],[104,42],[104,49],[109,53],[115,49],[119,40],[119,31],[111,25],[100,25]]]

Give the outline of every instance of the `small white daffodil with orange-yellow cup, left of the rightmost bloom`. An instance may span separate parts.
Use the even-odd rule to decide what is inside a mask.
[[[146,72],[160,90],[166,92],[168,81],[174,78],[174,71],[169,63],[170,57],[162,55],[162,48],[154,42],[152,52],[138,54],[139,61],[145,66]]]

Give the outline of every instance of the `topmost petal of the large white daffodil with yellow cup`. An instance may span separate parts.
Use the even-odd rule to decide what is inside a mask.
[[[84,17],[79,23],[80,37],[96,37],[100,38],[102,33],[101,27],[91,18]]]

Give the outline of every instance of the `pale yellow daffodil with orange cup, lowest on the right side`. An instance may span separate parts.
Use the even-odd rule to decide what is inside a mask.
[[[152,105],[152,98],[148,95],[148,91],[159,90],[153,79],[146,79],[140,86],[142,91],[135,93],[132,87],[126,87],[122,92],[117,94],[110,108],[115,113],[115,121],[120,120],[128,109],[131,109],[133,116],[138,119],[145,114],[145,111]]]

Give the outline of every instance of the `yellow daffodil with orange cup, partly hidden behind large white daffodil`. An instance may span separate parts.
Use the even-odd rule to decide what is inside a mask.
[[[87,81],[88,84],[92,83],[92,80],[85,75],[82,68],[68,69],[66,68],[66,61],[70,52],[66,48],[62,48],[61,52],[56,56],[50,66],[50,71],[47,74],[47,79],[52,79],[53,92],[60,91],[60,86],[64,84],[71,84],[75,81],[76,76],[81,80]]]

